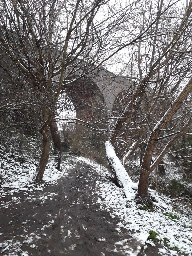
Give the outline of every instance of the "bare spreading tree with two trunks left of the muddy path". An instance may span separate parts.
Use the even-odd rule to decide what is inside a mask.
[[[60,93],[127,45],[123,33],[117,38],[118,28],[136,2],[122,7],[109,0],[1,1],[0,44],[8,56],[2,68],[15,65],[9,75],[20,77],[40,107],[43,146],[36,181],[42,181],[49,157],[49,127],[60,168],[60,138],[53,123]]]

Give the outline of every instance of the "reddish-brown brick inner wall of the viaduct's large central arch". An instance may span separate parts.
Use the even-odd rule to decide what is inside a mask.
[[[73,79],[75,79],[75,76],[68,78],[68,80]],[[71,83],[66,88],[65,93],[73,103],[78,119],[94,122],[106,116],[106,111],[101,111],[100,109],[105,106],[104,96],[90,77],[84,77]],[[97,127],[98,125],[100,129],[106,127],[106,124],[103,123],[97,124]],[[73,127],[74,131],[69,131],[66,145],[70,145],[71,150],[77,154],[81,152],[83,154],[92,154],[96,150],[100,155],[103,150],[101,143],[104,140],[104,135],[98,134],[97,131],[92,129],[96,126],[94,124],[90,124],[88,127],[82,126],[81,122],[78,121]],[[104,152],[101,155],[104,156]]]

